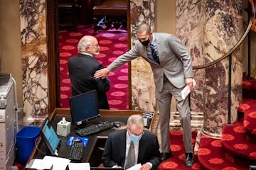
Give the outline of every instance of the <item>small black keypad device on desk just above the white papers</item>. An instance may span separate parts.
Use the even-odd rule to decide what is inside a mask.
[[[82,142],[74,142],[70,150],[69,159],[82,161],[83,149],[84,149],[84,146]]]

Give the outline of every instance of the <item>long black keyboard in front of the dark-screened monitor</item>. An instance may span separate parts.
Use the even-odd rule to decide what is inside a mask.
[[[110,122],[103,122],[97,125],[91,125],[85,128],[81,128],[79,130],[75,130],[75,133],[81,137],[92,135],[97,132],[102,132],[103,130],[107,130],[113,127],[113,123]]]

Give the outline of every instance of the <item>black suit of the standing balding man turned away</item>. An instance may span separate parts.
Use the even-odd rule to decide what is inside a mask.
[[[72,96],[96,90],[99,108],[110,109],[106,95],[106,92],[110,89],[110,81],[108,79],[94,78],[95,72],[102,68],[104,68],[102,64],[90,55],[79,54],[68,60]]]

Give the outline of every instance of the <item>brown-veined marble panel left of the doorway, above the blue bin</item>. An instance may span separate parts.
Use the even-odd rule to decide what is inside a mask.
[[[24,123],[48,115],[46,1],[20,0]]]

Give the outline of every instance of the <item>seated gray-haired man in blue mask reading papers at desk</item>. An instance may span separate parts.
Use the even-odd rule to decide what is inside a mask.
[[[110,133],[102,154],[104,166],[112,168],[129,169],[140,163],[140,170],[154,170],[160,160],[159,142],[154,133],[144,130],[142,115],[131,115],[126,129]]]

